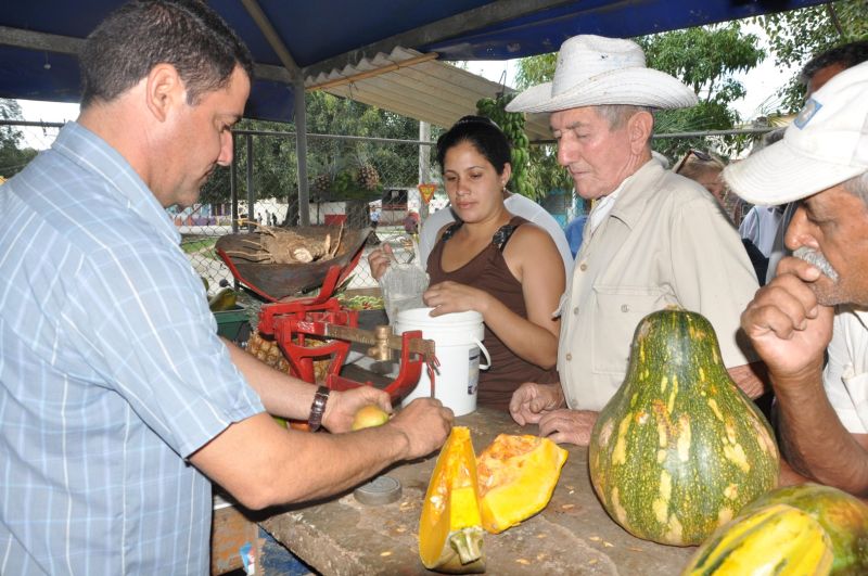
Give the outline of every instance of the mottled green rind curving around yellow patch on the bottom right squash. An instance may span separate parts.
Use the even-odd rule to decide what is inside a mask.
[[[741,514],[775,504],[797,508],[819,522],[832,542],[832,574],[868,574],[868,504],[831,486],[802,484],[765,494]]]

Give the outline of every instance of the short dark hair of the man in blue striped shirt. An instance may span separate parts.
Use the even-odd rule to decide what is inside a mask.
[[[204,2],[135,0],[112,12],[85,42],[81,107],[111,102],[162,63],[178,71],[190,104],[225,88],[237,65],[253,77],[247,48]]]

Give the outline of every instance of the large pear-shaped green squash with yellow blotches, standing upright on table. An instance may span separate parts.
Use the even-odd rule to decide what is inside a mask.
[[[711,323],[667,308],[639,322],[588,465],[627,532],[692,546],[777,485],[779,457],[768,422],[730,380]]]

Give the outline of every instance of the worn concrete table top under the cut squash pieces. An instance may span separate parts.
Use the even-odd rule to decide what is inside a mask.
[[[458,418],[477,452],[500,433],[536,434],[507,413],[481,409]],[[587,448],[564,445],[570,456],[548,507],[498,535],[485,535],[486,573],[674,575],[694,548],[633,537],[615,524],[593,494]],[[318,572],[331,575],[431,574],[419,560],[421,505],[436,453],[383,474],[401,484],[394,503],[368,507],[352,491],[329,501],[283,509],[260,522],[279,542]]]

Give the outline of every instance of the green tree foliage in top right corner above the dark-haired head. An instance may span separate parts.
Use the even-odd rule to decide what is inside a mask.
[[[839,44],[868,38],[868,2],[840,0],[754,18],[768,36],[775,64],[801,68],[815,55]],[[805,87],[796,73],[780,90],[787,114],[802,107]]]

